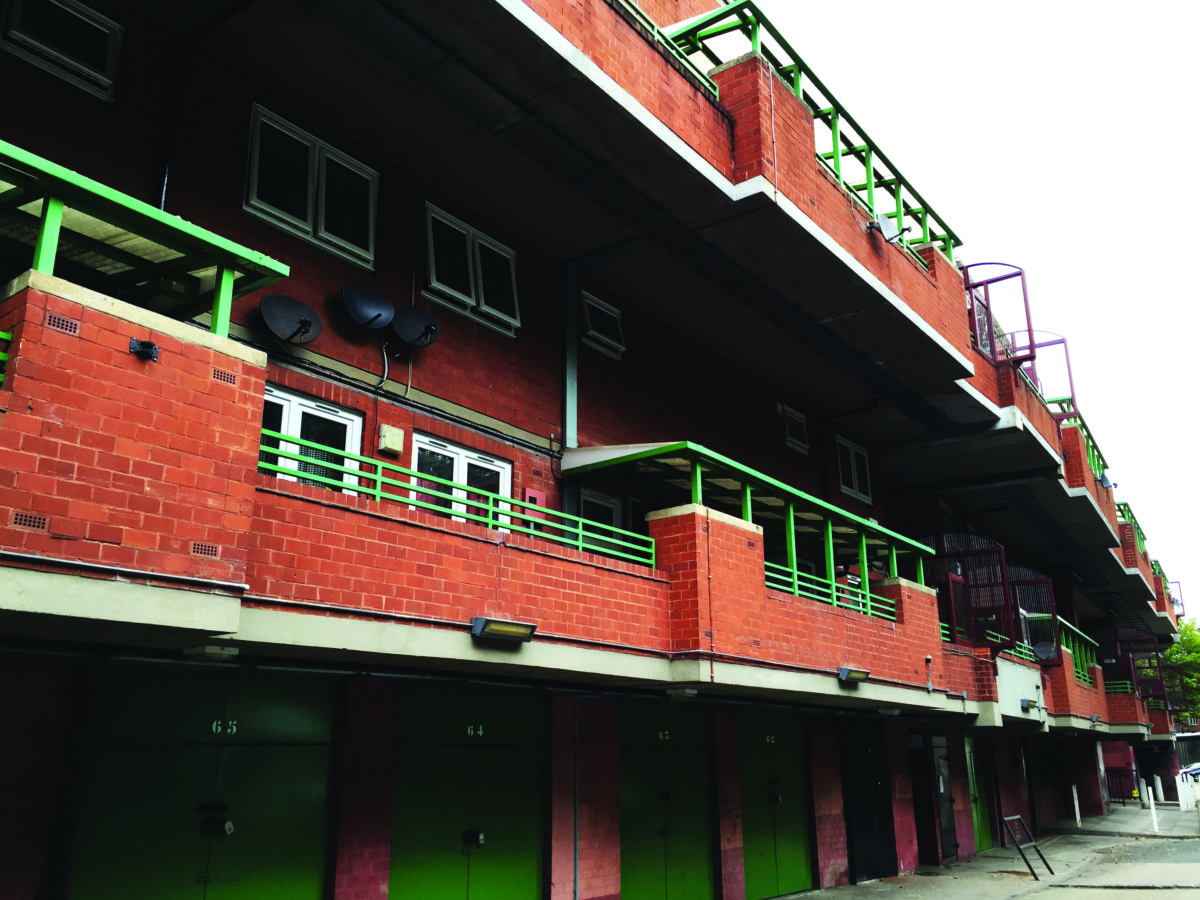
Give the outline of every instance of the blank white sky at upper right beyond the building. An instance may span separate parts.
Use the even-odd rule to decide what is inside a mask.
[[[962,239],[960,259],[1025,269],[1117,500],[1200,613],[1200,2],[758,6]]]

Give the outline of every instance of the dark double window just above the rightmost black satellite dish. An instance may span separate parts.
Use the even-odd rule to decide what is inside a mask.
[[[425,226],[430,252],[427,296],[488,328],[515,335],[521,326],[516,253],[436,206],[425,208]]]

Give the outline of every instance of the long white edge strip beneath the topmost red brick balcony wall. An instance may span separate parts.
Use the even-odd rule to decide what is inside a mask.
[[[816,238],[839,262],[853,271],[859,278],[869,284],[880,298],[900,312],[913,325],[919,328],[934,343],[946,354],[952,356],[968,372],[974,372],[974,365],[932,325],[918,316],[899,295],[893,293],[882,281],[872,275],[862,263],[859,263],[848,251],[846,251],[833,238],[826,234],[816,222],[814,222],[794,203],[779,193],[775,186],[764,176],[756,175],[752,179],[733,184],[725,175],[718,172],[708,160],[701,156],[683,138],[676,134],[665,122],[650,114],[637,100],[626,91],[616,79],[606,73],[583,50],[571,43],[548,22],[535,13],[524,0],[496,0],[496,4],[504,8],[512,18],[529,29],[533,35],[554,53],[572,66],[581,77],[588,79],[602,90],[613,102],[629,113],[638,125],[665,144],[672,152],[679,156],[686,164],[691,166],[716,190],[721,191],[732,202],[745,200],[754,196],[761,196],[778,205],[800,228]]]

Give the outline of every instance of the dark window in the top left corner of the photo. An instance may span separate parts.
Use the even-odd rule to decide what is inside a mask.
[[[35,66],[112,100],[124,31],[78,0],[12,0],[0,43]]]

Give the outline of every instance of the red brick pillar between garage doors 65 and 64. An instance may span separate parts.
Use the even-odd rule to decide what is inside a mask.
[[[400,737],[398,691],[350,682],[342,743],[335,900],[386,900]]]

